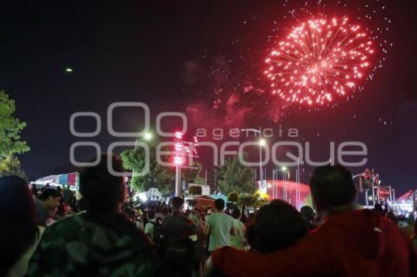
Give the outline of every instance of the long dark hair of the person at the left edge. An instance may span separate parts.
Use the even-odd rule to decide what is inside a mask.
[[[5,276],[39,233],[32,193],[22,178],[0,177],[0,218],[0,276]]]

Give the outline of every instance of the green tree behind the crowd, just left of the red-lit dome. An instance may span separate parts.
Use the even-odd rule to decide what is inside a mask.
[[[247,157],[246,153],[243,153],[243,159]],[[237,193],[253,193],[253,171],[251,168],[244,166],[239,158],[236,156],[225,161],[223,166],[218,168],[219,190],[228,194],[232,191]]]

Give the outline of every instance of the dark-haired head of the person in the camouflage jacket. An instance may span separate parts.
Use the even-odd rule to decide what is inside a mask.
[[[102,154],[99,164],[84,168],[79,176],[79,192],[85,199],[87,210],[102,214],[117,211],[126,193],[123,177],[111,174],[107,162],[114,171],[124,171],[119,157]]]

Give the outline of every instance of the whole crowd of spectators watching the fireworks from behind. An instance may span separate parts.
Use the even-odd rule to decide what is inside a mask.
[[[342,166],[314,170],[315,210],[273,200],[248,213],[222,199],[212,211],[181,197],[135,205],[101,161],[81,172],[78,200],[0,177],[0,276],[417,276],[416,233],[382,207],[359,209]]]

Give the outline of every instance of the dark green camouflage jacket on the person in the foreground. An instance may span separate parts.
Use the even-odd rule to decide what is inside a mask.
[[[79,213],[48,227],[27,276],[156,276],[154,245],[123,215]]]

